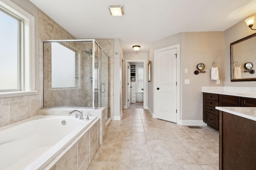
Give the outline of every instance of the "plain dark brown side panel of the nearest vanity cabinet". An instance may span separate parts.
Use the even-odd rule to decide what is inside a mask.
[[[255,99],[253,99],[255,100]],[[220,113],[220,170],[255,170],[256,121]]]

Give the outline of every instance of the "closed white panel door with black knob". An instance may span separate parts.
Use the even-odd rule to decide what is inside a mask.
[[[176,49],[156,53],[156,118],[177,123]]]

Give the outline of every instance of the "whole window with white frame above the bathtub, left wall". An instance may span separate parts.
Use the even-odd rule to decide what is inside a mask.
[[[34,17],[0,0],[0,98],[37,94]]]

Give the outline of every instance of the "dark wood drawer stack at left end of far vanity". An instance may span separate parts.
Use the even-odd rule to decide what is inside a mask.
[[[218,94],[203,93],[203,121],[210,127],[219,129],[219,116],[218,110],[215,109],[218,106]]]

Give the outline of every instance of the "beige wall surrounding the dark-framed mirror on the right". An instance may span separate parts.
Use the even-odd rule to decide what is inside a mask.
[[[251,16],[256,17],[256,13],[252,14]],[[255,24],[253,28],[255,29]],[[226,29],[225,31],[225,57],[224,57],[224,64],[225,64],[225,86],[244,86],[244,87],[255,87],[256,82],[231,82],[231,74],[230,74],[230,43],[233,43],[234,41],[237,41],[239,39],[242,39],[244,37],[247,37],[248,35],[252,35],[253,33],[256,33],[255,30],[251,30],[244,20],[236,23],[232,27]],[[254,64],[254,63],[252,63]],[[255,64],[254,64],[255,65]],[[241,67],[244,67],[243,65]],[[254,70],[256,68],[253,68]],[[249,73],[248,73],[249,74]]]

